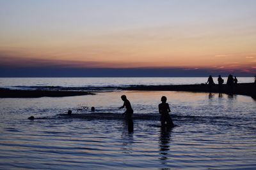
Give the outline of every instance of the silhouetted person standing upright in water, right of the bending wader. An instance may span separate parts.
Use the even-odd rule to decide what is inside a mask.
[[[165,125],[165,122],[167,126],[174,127],[174,124],[172,122],[172,118],[170,117],[169,113],[171,112],[169,104],[166,103],[167,98],[165,96],[161,97],[162,103],[158,105],[159,114],[161,114],[161,125]]]

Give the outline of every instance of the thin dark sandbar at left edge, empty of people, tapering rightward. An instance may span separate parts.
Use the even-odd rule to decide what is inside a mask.
[[[11,90],[0,89],[1,98],[34,98],[34,97],[65,97],[93,95],[91,92],[81,91],[51,91],[51,90]]]

